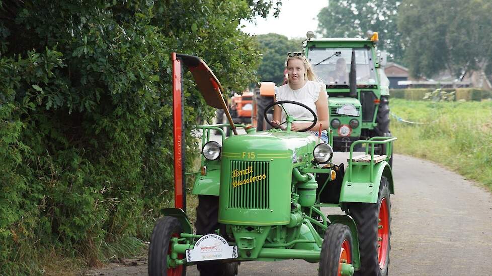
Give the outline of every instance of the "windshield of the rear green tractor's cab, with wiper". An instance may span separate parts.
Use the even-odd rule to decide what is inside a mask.
[[[357,84],[377,84],[371,50],[354,50]],[[327,85],[349,85],[351,58],[352,48],[310,48],[308,52],[314,73]]]

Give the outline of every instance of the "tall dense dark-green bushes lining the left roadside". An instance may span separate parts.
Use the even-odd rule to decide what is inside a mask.
[[[148,240],[173,184],[170,53],[240,91],[259,53],[237,26],[272,4],[0,0],[0,274],[41,273],[43,248],[94,264]],[[192,129],[212,111],[185,87]]]

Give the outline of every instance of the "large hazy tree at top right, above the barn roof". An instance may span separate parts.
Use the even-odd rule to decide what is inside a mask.
[[[405,58],[414,76],[449,70],[456,77],[492,60],[490,1],[407,0],[399,9]]]

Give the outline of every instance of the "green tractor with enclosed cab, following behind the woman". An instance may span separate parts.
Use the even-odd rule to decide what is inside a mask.
[[[362,38],[313,38],[308,32],[304,53],[330,97],[334,150],[349,151],[357,140],[391,136],[386,53],[377,53],[378,34]],[[376,147],[383,154],[385,144]],[[391,163],[391,160],[390,160]]]

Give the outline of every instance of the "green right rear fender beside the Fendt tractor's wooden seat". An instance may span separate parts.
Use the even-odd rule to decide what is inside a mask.
[[[389,191],[394,194],[393,173],[386,161],[374,165],[373,178],[371,177],[370,165],[352,165],[352,181],[349,182],[349,170],[345,172],[340,192],[340,203],[342,202],[362,202],[376,203],[379,193],[379,183],[381,177],[386,177],[389,182]]]

